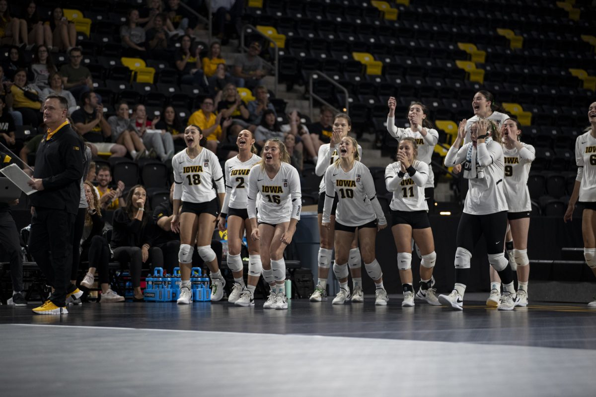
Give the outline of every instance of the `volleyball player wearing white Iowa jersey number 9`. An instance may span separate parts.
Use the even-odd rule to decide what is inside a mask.
[[[501,127],[503,156],[505,162],[505,178],[503,190],[507,199],[507,221],[509,232],[505,243],[513,244],[508,250],[509,263],[513,270],[517,269],[517,301],[516,306],[527,306],[527,283],[530,276],[530,260],[527,257],[527,232],[530,229],[530,192],[527,189],[527,178],[536,151],[534,146],[520,141],[522,124],[514,118],[508,118]],[[511,235],[511,236],[510,236]],[[513,239],[510,242],[509,237]],[[486,305],[497,306],[501,299],[501,279],[491,267],[491,295]]]

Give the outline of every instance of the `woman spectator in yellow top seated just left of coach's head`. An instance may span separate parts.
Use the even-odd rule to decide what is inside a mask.
[[[41,89],[39,87],[27,84],[27,71],[17,69],[14,74],[14,84],[10,85],[13,93],[13,108],[23,115],[23,123],[37,127],[41,124]]]

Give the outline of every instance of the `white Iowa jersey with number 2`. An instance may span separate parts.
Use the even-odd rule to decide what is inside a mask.
[[[253,154],[247,161],[240,161],[238,156],[234,156],[225,162],[225,199],[222,206],[222,212],[227,214],[229,208],[243,210],[246,208],[246,196],[248,193],[247,184],[249,182],[249,172],[260,157]]]

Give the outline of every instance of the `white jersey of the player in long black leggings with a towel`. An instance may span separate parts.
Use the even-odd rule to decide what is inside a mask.
[[[459,150],[451,146],[445,157],[445,165],[453,167],[455,164],[463,164],[463,168],[470,167],[466,161],[468,148],[472,143],[462,146]],[[485,147],[482,147],[485,146]],[[465,195],[464,212],[471,215],[488,215],[495,212],[507,211],[507,200],[503,192],[503,148],[501,143],[494,140],[489,143],[482,143],[479,148],[479,157],[486,160],[487,164],[477,165],[482,168],[483,178],[468,179],[470,189]],[[481,154],[485,154],[482,155]],[[480,159],[479,159],[480,161]]]

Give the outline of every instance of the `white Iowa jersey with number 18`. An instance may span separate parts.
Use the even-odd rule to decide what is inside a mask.
[[[203,148],[195,158],[188,157],[186,149],[172,158],[174,182],[182,186],[182,201],[208,202],[216,196],[213,182],[219,193],[224,193],[224,174],[216,155]]]

